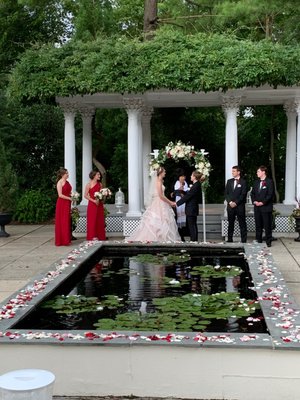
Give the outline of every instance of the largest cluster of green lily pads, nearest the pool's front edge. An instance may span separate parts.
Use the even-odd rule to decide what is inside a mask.
[[[246,317],[258,307],[252,300],[241,299],[236,293],[213,295],[186,294],[182,297],[153,299],[155,312],[127,312],[115,319],[100,319],[98,329],[191,331],[205,330],[212,319]]]

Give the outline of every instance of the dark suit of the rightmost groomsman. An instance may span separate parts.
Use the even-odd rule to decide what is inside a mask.
[[[260,184],[262,182],[262,185]],[[257,179],[253,184],[251,192],[252,203],[260,201],[262,206],[254,205],[256,240],[262,242],[262,231],[265,230],[266,243],[271,246],[272,242],[272,211],[273,211],[274,185],[270,178]]]

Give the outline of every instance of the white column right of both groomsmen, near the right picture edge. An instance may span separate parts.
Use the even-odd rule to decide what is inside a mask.
[[[287,115],[286,155],[285,155],[285,196],[284,204],[295,204],[296,197],[296,131],[297,112],[294,101],[284,104]],[[299,162],[299,161],[298,161]]]

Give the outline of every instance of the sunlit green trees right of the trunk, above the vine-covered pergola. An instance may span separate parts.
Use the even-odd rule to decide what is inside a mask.
[[[300,3],[295,0],[163,0],[158,10],[159,27],[171,25],[185,34],[224,32],[254,41],[299,42]]]

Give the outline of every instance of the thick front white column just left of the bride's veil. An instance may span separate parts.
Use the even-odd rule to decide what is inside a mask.
[[[141,213],[141,112],[143,102],[138,98],[124,99],[128,114],[128,212],[127,217],[140,217]]]

